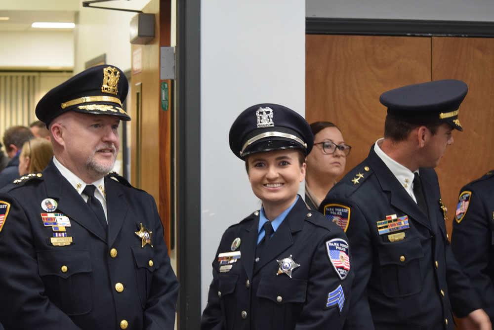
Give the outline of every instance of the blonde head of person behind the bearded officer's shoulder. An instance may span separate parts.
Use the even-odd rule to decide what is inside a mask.
[[[37,137],[24,142],[19,155],[19,175],[41,172],[52,158],[50,141]]]

